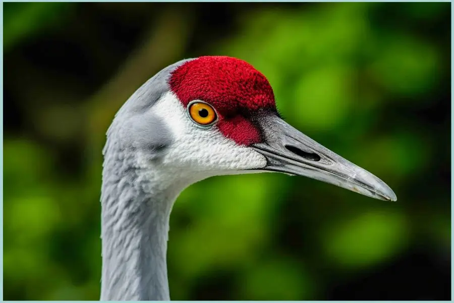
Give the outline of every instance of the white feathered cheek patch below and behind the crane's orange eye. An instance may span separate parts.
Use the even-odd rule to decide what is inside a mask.
[[[266,165],[264,156],[226,138],[215,126],[208,129],[197,126],[171,92],[166,93],[151,110],[162,118],[173,134],[174,142],[163,157],[163,165],[209,175],[234,174]]]

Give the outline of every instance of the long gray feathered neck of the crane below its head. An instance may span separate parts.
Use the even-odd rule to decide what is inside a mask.
[[[169,300],[169,216],[179,193],[157,189],[134,154],[107,140],[101,191],[101,300]]]

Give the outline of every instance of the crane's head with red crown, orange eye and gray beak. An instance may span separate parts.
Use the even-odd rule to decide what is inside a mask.
[[[281,119],[266,77],[236,58],[168,66],[130,97],[116,120],[117,135],[140,166],[169,178],[280,172],[396,200],[376,176]]]

